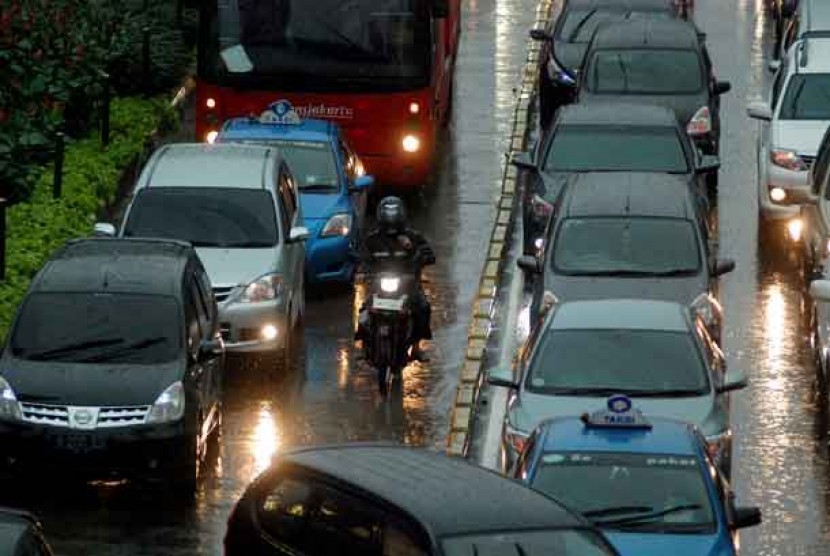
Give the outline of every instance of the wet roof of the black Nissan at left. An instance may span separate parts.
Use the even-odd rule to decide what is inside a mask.
[[[83,238],[67,242],[43,266],[36,292],[177,295],[193,247],[144,238]]]

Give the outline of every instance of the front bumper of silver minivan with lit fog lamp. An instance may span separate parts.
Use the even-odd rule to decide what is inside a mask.
[[[289,334],[285,296],[260,303],[224,303],[219,306],[222,339],[228,353],[263,353],[282,349]],[[277,330],[276,338],[267,339],[267,326]]]

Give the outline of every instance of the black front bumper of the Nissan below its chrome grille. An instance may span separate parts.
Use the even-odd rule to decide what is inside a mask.
[[[92,431],[0,421],[0,462],[84,479],[155,476],[182,464],[194,432],[184,420]]]

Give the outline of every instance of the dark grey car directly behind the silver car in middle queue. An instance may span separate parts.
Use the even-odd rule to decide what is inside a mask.
[[[533,322],[545,292],[561,301],[657,299],[698,306],[719,340],[716,278],[735,263],[715,258],[682,177],[582,174],[558,203],[541,256],[518,260],[536,278]]]

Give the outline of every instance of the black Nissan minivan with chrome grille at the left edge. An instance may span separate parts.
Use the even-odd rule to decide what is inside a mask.
[[[189,244],[68,242],[32,281],[0,358],[0,464],[170,479],[192,494],[221,419],[218,334]]]

